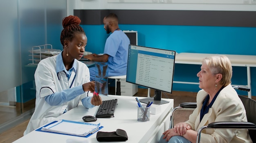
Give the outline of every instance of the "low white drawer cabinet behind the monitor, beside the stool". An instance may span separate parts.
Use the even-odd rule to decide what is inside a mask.
[[[121,95],[133,96],[138,92],[138,85],[126,82],[126,79],[120,79]],[[115,81],[115,93],[117,92],[117,79]]]

